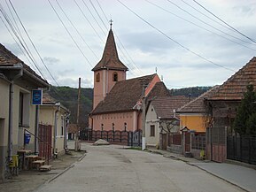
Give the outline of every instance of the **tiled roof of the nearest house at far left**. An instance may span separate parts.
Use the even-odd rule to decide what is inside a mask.
[[[10,65],[13,66],[15,64],[22,64],[23,68],[30,74],[34,75],[35,78],[43,81],[48,84],[46,80],[44,80],[40,75],[35,73],[28,65],[26,65],[23,61],[21,61],[18,57],[16,57],[10,50],[7,50],[3,44],[0,43],[0,65]]]

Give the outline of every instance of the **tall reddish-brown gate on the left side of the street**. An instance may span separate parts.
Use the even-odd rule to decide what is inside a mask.
[[[39,156],[49,160],[51,158],[51,126],[39,124],[38,137]]]

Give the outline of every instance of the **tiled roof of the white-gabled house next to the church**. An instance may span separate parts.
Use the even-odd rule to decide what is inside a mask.
[[[174,118],[174,110],[190,101],[186,96],[158,96],[151,101],[157,116],[161,119]]]

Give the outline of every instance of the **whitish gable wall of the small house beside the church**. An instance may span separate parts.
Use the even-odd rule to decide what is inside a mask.
[[[155,136],[151,136],[151,126],[155,126]],[[147,147],[159,145],[159,119],[154,107],[150,104],[146,113],[145,140]]]

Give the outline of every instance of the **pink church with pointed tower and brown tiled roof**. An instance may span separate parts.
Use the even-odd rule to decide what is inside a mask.
[[[89,113],[89,129],[94,131],[137,131],[142,129],[142,98],[169,96],[165,84],[154,73],[127,80],[128,67],[118,56],[112,27],[101,60],[94,73],[93,110]]]

